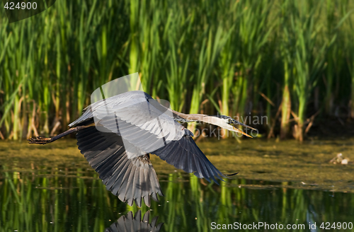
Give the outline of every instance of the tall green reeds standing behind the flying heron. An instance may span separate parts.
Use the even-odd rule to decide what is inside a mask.
[[[1,8],[0,138],[57,134],[94,89],[138,71],[174,110],[266,115],[271,124],[251,124],[302,140],[318,117],[354,117],[353,7],[57,1],[11,24]]]

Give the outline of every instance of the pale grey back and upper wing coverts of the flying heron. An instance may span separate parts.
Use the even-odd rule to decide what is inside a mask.
[[[184,127],[173,120],[168,109],[147,93],[130,91],[93,103],[69,126],[94,118],[98,130],[118,134],[127,142],[127,156],[133,158],[183,137]]]

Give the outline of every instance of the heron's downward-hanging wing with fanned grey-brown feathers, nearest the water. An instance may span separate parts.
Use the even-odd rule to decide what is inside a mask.
[[[163,196],[149,156],[127,158],[122,138],[114,133],[99,132],[88,127],[76,134],[77,145],[96,170],[107,190],[130,206],[141,207],[142,198],[150,207],[150,196],[156,202]]]

